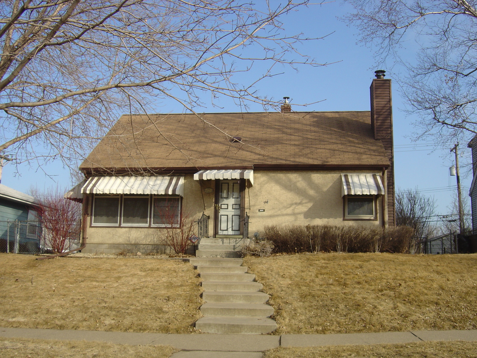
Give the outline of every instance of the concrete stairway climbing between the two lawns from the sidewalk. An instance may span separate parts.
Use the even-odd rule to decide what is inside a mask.
[[[206,303],[200,307],[204,317],[196,329],[207,333],[270,333],[277,328],[273,308],[265,303],[269,295],[259,292],[262,284],[247,274],[240,258],[197,257],[192,263],[202,278]]]

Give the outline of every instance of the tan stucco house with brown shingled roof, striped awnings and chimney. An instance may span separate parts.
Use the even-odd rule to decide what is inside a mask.
[[[84,252],[142,253],[198,220],[201,237],[266,225],[394,226],[391,80],[371,111],[125,115],[80,166]]]

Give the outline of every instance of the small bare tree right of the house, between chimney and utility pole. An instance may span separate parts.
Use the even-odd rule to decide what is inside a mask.
[[[396,224],[413,228],[417,237],[432,235],[435,227],[430,221],[435,210],[436,200],[417,189],[396,191]]]

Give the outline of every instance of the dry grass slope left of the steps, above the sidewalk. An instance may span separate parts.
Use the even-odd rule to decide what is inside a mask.
[[[0,254],[0,326],[191,333],[199,282],[180,260]]]

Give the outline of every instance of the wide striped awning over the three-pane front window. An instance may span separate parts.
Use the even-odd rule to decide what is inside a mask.
[[[92,177],[83,194],[167,194],[184,197],[184,176]]]

